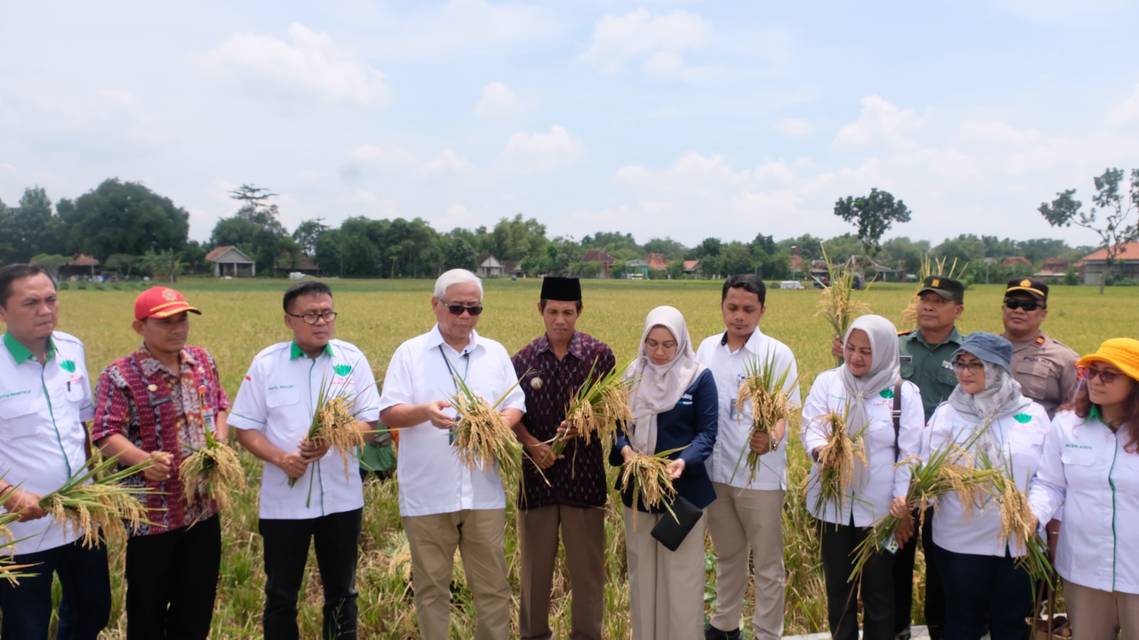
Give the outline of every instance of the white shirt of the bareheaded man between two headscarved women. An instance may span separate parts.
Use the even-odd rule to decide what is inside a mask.
[[[798,366],[795,363],[795,355],[787,345],[764,335],[759,327],[747,338],[744,347],[736,352],[728,348],[724,338],[724,334],[708,336],[696,351],[696,359],[715,376],[715,388],[720,396],[720,430],[712,456],[704,461],[708,477],[712,482],[740,489],[786,490],[787,450],[784,446],[760,457],[760,470],[755,475],[755,481],[748,484],[748,471],[745,469],[746,453],[744,453],[745,461],[740,461],[740,453],[749,448],[752,403],[746,402],[741,413],[737,416],[736,396],[739,393],[739,385],[747,377],[747,364],[753,361],[762,364],[768,358],[773,356],[777,371],[789,369],[784,388],[790,399],[792,409],[801,407]],[[790,428],[790,425],[787,428]],[[787,442],[786,437],[784,442]]]

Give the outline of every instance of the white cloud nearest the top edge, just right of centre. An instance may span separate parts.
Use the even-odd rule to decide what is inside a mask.
[[[630,60],[645,58],[649,73],[683,77],[690,75],[685,69],[683,54],[700,49],[711,31],[711,23],[682,10],[656,17],[644,8],[624,16],[608,15],[593,25],[593,40],[581,58],[606,73],[616,73]]]

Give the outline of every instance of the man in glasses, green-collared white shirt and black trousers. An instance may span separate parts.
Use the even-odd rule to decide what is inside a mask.
[[[323,282],[301,282],[285,292],[285,326],[293,340],[253,359],[229,416],[237,440],[265,462],[257,528],[264,539],[265,638],[298,637],[297,593],[310,541],[316,545],[325,591],[323,635],[357,637],[357,548],[363,485],[355,452],[347,465],[339,451],[326,456],[322,441],[308,442],[321,391],[349,399],[357,421],[369,432],[379,418],[379,394],[368,359],[335,339],[333,293]],[[295,484],[289,486],[289,479]]]

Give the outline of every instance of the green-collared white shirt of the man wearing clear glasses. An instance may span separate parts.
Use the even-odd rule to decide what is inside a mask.
[[[331,339],[316,360],[293,342],[277,343],[259,353],[241,380],[228,421],[238,429],[263,434],[282,451],[296,451],[309,433],[322,384],[330,385],[334,394],[341,389],[354,394],[352,411],[358,420],[379,420],[379,392],[368,358],[355,345]],[[355,451],[349,452],[345,467],[339,450],[329,449],[292,487],[280,467],[264,467],[262,518],[308,519],[363,507]]]

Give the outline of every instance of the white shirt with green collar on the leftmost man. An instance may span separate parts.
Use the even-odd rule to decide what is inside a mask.
[[[0,476],[28,493],[47,495],[84,471],[87,429],[95,417],[83,343],[54,331],[47,364],[11,336],[0,337]],[[51,516],[8,525],[16,553],[34,553],[76,539]],[[10,549],[6,549],[10,552]]]

